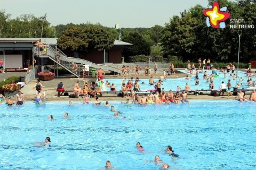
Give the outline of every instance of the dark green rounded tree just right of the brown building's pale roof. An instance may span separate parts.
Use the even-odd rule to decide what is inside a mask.
[[[127,49],[123,49],[123,56],[150,54],[150,46],[139,32],[130,32],[129,35],[124,38],[124,41],[131,43],[132,46],[127,47]]]

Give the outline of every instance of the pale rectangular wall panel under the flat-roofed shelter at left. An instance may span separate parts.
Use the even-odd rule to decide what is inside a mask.
[[[3,61],[5,63],[5,68],[6,69],[14,69],[14,68],[22,68],[23,64],[22,64],[22,55],[18,54],[18,55],[0,55],[0,60],[3,59],[5,61]]]

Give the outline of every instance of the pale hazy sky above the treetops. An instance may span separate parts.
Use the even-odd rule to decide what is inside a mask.
[[[0,0],[0,10],[15,19],[21,14],[47,15],[55,26],[67,23],[101,23],[105,27],[151,28],[164,26],[173,15],[207,0]]]

